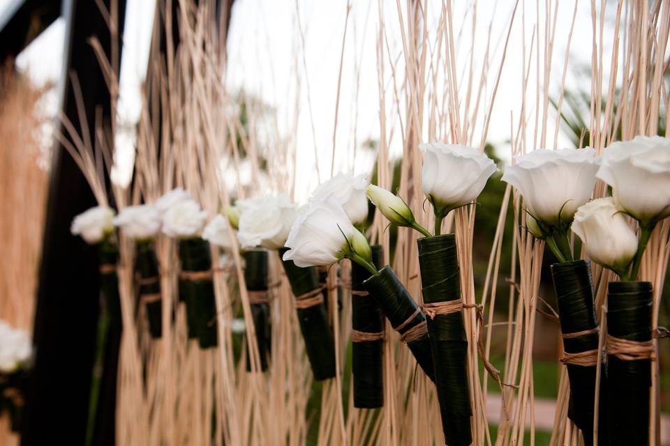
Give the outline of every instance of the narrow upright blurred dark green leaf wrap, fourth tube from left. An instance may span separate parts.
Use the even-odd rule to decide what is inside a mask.
[[[267,302],[267,271],[268,254],[264,248],[248,249],[244,256],[244,282],[246,282],[246,291],[248,293],[265,292],[265,302],[251,302],[251,316],[253,318],[253,327],[256,331],[256,344],[258,345],[258,355],[260,356],[260,369],[266,371],[271,350],[271,325],[270,325],[270,305]],[[251,295],[250,300],[254,300]],[[246,370],[251,371],[251,358],[249,349],[246,349]]]

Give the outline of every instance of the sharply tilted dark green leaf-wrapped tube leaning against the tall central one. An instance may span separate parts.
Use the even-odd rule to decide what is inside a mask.
[[[384,316],[400,334],[405,334],[417,325],[426,322],[426,316],[420,311],[417,302],[412,299],[390,266],[385,266],[377,275],[365,280],[363,286],[377,301]],[[403,324],[404,326],[398,330],[397,327]],[[424,373],[435,381],[428,333],[420,339],[409,341],[407,346]]]

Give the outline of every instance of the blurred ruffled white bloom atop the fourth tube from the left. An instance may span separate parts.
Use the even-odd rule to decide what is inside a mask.
[[[243,249],[283,247],[297,214],[288,195],[239,200],[235,205],[239,209],[237,239]]]

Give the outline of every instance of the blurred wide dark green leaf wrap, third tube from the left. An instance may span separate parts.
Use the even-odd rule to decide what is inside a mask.
[[[186,302],[188,337],[197,337],[200,348],[214,347],[218,344],[218,337],[209,243],[202,238],[179,240],[179,259],[179,292],[183,293]],[[199,272],[202,274],[198,275]]]

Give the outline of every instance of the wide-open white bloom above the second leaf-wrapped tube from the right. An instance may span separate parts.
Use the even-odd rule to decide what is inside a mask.
[[[539,222],[565,226],[591,197],[598,169],[593,148],[539,149],[514,160],[502,180],[523,195],[528,212]]]

